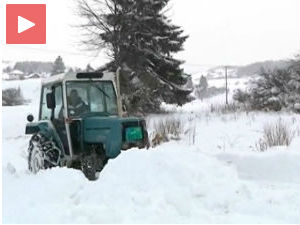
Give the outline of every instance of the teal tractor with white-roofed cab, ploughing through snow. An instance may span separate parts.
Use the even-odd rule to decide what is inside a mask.
[[[81,170],[97,180],[121,150],[149,147],[143,118],[124,117],[118,72],[63,73],[42,80],[39,117],[27,116],[32,135],[28,168]]]

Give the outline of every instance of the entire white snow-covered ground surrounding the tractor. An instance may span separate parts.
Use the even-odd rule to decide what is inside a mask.
[[[245,82],[230,80],[230,93]],[[122,152],[90,182],[66,168],[28,172],[24,130],[28,113],[37,118],[40,80],[2,83],[20,86],[31,100],[2,107],[3,223],[300,223],[297,114],[210,113],[224,95],[164,105],[172,113],[149,116],[149,132],[176,118],[184,125],[181,140]],[[258,151],[264,125],[278,119],[294,131],[291,145]]]

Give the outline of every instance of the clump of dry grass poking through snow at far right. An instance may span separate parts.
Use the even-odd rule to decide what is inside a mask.
[[[273,146],[289,146],[294,138],[294,132],[279,119],[275,124],[266,124],[263,137],[259,139],[256,148],[265,151]]]

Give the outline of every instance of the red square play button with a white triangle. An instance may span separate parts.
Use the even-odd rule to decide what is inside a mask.
[[[46,5],[7,4],[6,44],[46,44]]]

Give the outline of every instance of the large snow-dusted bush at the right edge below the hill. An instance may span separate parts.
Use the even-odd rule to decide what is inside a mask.
[[[291,66],[262,71],[251,82],[248,92],[237,91],[234,99],[252,110],[280,111],[283,108],[300,113],[300,58]]]

